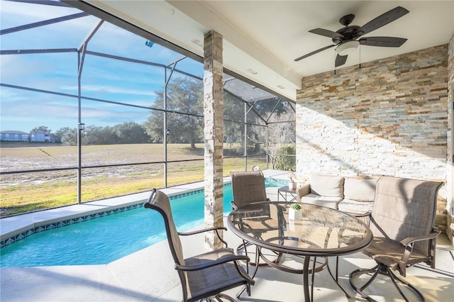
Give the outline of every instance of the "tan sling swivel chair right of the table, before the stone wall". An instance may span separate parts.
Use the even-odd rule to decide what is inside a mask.
[[[375,204],[370,214],[370,229],[374,240],[362,252],[375,259],[372,269],[357,269],[350,273],[353,289],[368,301],[364,293],[367,286],[379,275],[389,276],[400,295],[408,301],[399,287],[409,289],[425,301],[416,287],[394,274],[406,276],[406,268],[425,262],[435,268],[436,237],[441,233],[433,228],[436,216],[438,189],[441,182],[380,177],[375,192]],[[361,274],[372,274],[362,286],[353,279]],[[358,281],[358,280],[357,280]]]

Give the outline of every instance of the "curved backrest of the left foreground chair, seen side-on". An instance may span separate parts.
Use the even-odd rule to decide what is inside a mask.
[[[143,206],[145,208],[151,208],[162,215],[172,257],[175,263],[184,265],[182,242],[179,240],[177,228],[175,228],[175,223],[173,222],[169,197],[161,191],[153,189],[148,201]]]

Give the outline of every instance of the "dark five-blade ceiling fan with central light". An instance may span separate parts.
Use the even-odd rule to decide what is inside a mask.
[[[380,47],[399,47],[405,43],[405,38],[395,38],[395,37],[367,37],[367,38],[360,38],[362,35],[366,33],[370,33],[372,30],[376,30],[377,28],[381,28],[382,26],[391,23],[392,21],[397,20],[398,18],[404,16],[406,13],[409,13],[406,9],[401,6],[397,6],[396,8],[383,13],[382,15],[378,16],[377,18],[369,21],[364,26],[350,26],[355,15],[349,14],[343,16],[339,19],[339,23],[341,23],[343,28],[337,30],[336,32],[323,29],[323,28],[316,28],[313,30],[309,30],[309,33],[315,33],[316,35],[323,35],[325,37],[331,38],[333,40],[333,45],[328,45],[326,47],[322,47],[319,50],[314,50],[313,52],[309,52],[302,57],[295,59],[294,61],[297,62],[302,60],[306,57],[310,57],[311,55],[315,55],[323,50],[327,50],[328,48],[336,47],[336,62],[335,67],[344,65],[347,61],[347,57],[350,53],[356,50],[356,48],[361,45],[369,45],[369,46],[380,46]],[[358,38],[360,38],[358,40]]]

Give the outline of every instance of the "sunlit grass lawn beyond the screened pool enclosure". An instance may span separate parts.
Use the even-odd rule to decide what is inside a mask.
[[[164,164],[134,164],[117,167],[93,167],[104,164],[162,162],[162,144],[90,145],[82,147],[82,202],[164,187]],[[167,145],[167,160],[196,160],[167,164],[167,186],[204,179],[204,148],[191,149],[185,144]],[[73,146],[32,145],[1,146],[2,171],[77,167],[77,149]],[[248,167],[264,160],[248,159]],[[243,158],[224,160],[223,174],[244,169]],[[55,172],[2,174],[0,186],[1,217],[28,211],[77,203],[77,169]]]

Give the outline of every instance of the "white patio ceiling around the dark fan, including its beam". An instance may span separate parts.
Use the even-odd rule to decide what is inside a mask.
[[[334,69],[334,47],[294,62],[301,55],[332,44],[331,38],[309,30],[336,31],[343,27],[339,18],[349,13],[356,16],[351,25],[363,26],[402,6],[409,13],[364,37],[408,40],[398,48],[361,45],[342,67],[443,45],[454,33],[454,0],[87,2],[200,56],[204,33],[216,30],[224,39],[225,67],[292,100],[296,99],[301,77]]]

